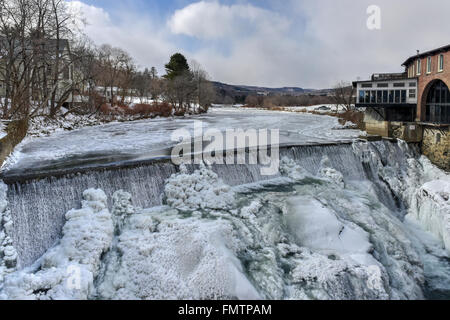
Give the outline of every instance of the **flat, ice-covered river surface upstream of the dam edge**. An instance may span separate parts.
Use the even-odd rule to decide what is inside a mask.
[[[175,144],[177,129],[194,130],[279,129],[281,144],[324,144],[351,141],[361,132],[336,130],[338,119],[306,113],[212,108],[208,114],[190,118],[152,119],[86,127],[22,143],[8,166],[9,175],[41,173],[58,169],[107,166],[126,161],[165,157]]]

